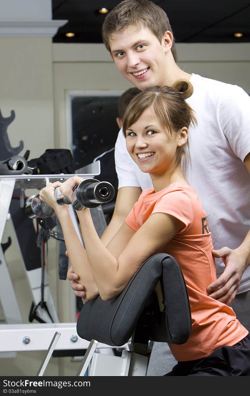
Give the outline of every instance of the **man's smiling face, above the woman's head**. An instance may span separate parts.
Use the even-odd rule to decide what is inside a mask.
[[[166,85],[167,48],[151,30],[127,27],[111,34],[109,44],[117,68],[138,89]]]

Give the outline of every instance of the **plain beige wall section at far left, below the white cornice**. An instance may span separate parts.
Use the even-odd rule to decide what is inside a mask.
[[[53,80],[50,37],[0,37],[0,109],[15,111],[8,127],[12,147],[23,140],[30,158],[54,147]]]

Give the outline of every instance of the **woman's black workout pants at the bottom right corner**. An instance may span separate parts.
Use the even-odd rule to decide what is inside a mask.
[[[250,376],[250,335],[233,346],[216,348],[205,358],[178,362],[172,371],[165,375]]]

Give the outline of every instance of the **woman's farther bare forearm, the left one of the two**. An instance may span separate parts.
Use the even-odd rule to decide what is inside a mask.
[[[83,285],[86,299],[90,300],[99,294],[98,287],[91,272],[86,250],[83,247],[68,210],[57,210],[56,215],[60,221],[64,234],[64,241],[68,256],[74,272],[79,276],[78,283]]]

